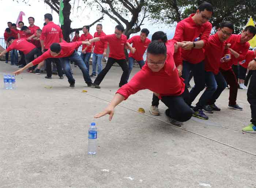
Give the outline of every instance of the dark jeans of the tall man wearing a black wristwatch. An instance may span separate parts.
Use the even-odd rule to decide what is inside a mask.
[[[188,86],[189,75],[192,72],[195,86],[190,90],[190,102],[189,105],[195,100],[197,95],[204,89],[205,86],[205,71],[204,62],[192,64],[187,61],[183,61],[182,78],[184,78],[185,85]]]

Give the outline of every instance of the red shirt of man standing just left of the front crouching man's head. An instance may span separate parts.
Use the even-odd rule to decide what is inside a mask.
[[[144,52],[147,50],[147,46],[151,43],[151,40],[146,38],[144,42],[140,39],[140,36],[133,36],[132,38],[127,40],[128,43],[132,43],[132,47],[136,48],[135,53],[133,54],[131,51],[129,53],[129,57],[132,57],[136,61],[143,60]]]

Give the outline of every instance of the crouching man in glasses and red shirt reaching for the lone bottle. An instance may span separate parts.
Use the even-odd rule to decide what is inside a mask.
[[[188,121],[192,116],[192,110],[185,102],[189,98],[189,93],[174,64],[174,43],[171,49],[171,54],[166,55],[164,43],[156,40],[151,42],[147,48],[147,61],[142,70],[136,73],[129,83],[117,90],[108,107],[102,113],[95,115],[95,118],[109,114],[109,121],[111,121],[114,107],[126,100],[129,95],[148,89],[156,93],[168,107],[165,114],[170,119],[169,122],[176,125],[174,122]],[[170,80],[172,82],[168,82]]]

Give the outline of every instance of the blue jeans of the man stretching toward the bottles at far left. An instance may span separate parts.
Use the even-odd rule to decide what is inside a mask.
[[[70,71],[70,61],[73,61],[82,71],[84,81],[88,83],[92,83],[91,78],[89,76],[89,72],[87,70],[87,67],[85,66],[83,59],[79,56],[79,54],[76,52],[76,50],[73,52],[73,54],[69,57],[60,58],[60,62],[62,66],[64,67],[65,74],[68,78],[69,83],[75,83],[75,79],[73,78],[71,71]]]

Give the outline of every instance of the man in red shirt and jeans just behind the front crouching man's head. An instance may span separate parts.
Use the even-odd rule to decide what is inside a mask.
[[[132,44],[132,47],[136,49],[134,54],[132,52],[129,52],[129,64],[128,64],[129,74],[127,77],[127,81],[131,74],[134,60],[136,60],[140,68],[142,68],[144,65],[143,55],[144,55],[144,52],[147,50],[148,44],[151,42],[151,40],[147,38],[148,34],[149,34],[149,31],[146,28],[144,28],[141,30],[140,36],[133,36],[132,38],[127,40],[127,42],[129,44]]]

